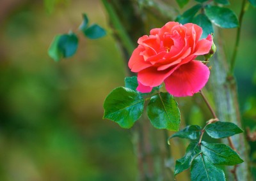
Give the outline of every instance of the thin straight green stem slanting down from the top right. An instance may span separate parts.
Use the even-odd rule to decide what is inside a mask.
[[[230,61],[230,70],[229,70],[229,73],[228,73],[229,76],[232,76],[232,74],[234,72],[235,62],[236,62],[236,55],[237,55],[237,50],[238,50],[238,47],[239,47],[239,41],[240,41],[240,35],[241,35],[241,27],[242,27],[243,16],[244,16],[244,13],[247,10],[247,8],[248,8],[248,2],[246,3],[246,0],[243,0],[242,8],[241,8],[240,15],[239,15],[239,27],[237,27],[236,44],[235,44],[235,48],[233,50],[232,59]]]

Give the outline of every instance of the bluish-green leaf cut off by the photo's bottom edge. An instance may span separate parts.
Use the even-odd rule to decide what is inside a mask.
[[[193,181],[225,181],[223,170],[214,166],[206,156],[199,154],[191,165],[191,180]]]

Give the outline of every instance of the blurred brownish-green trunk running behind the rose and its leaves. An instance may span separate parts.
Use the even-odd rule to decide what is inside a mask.
[[[150,11],[151,14],[156,15],[154,18],[159,18],[160,21],[162,19],[163,24],[168,19],[162,15],[162,11],[164,11],[162,7],[164,6],[157,9],[157,6],[152,7],[152,4],[142,3],[141,6],[145,8],[145,11],[142,11],[142,9],[139,10],[136,1],[132,0],[102,0],[102,3],[109,15],[109,24],[113,27],[116,42],[120,45],[126,64],[135,45],[137,45],[138,38],[149,32],[148,19],[145,18],[144,13]],[[170,12],[168,11],[169,15]],[[159,19],[156,23],[159,23]],[[131,71],[127,71],[127,75],[131,76]],[[131,132],[134,151],[137,156],[138,180],[174,180],[174,166],[170,164],[173,163],[173,160],[170,145],[167,143],[167,131],[155,129],[150,124],[147,115],[144,114],[132,127]]]

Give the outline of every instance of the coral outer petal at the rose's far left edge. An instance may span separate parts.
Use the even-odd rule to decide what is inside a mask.
[[[132,72],[141,71],[141,69],[148,68],[152,66],[150,62],[145,62],[143,56],[140,55],[140,52],[145,50],[141,45],[132,52],[131,58],[128,62],[128,66]]]

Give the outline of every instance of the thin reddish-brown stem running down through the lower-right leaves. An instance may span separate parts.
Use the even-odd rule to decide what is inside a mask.
[[[207,124],[204,126],[204,128],[202,129],[201,131],[201,134],[200,134],[200,138],[199,138],[199,141],[198,141],[198,145],[201,144],[202,142],[202,138],[203,138],[203,135],[204,135],[204,132],[205,132],[205,128],[207,125],[209,124],[212,124],[213,122],[216,122],[216,121],[219,121],[218,117],[216,116],[216,113],[214,112],[212,106],[210,105],[209,101],[205,98],[204,96],[204,93],[202,92],[202,90],[200,91],[200,94],[202,96],[202,98],[204,99],[207,107],[209,108],[210,112],[212,113],[212,116],[214,117],[213,119],[210,119]],[[228,143],[230,145],[230,147],[236,151],[236,148],[234,147],[234,143],[232,141],[232,139],[230,137],[228,137]],[[236,175],[236,168],[237,168],[237,165],[234,166],[234,168],[231,171],[231,173],[234,175],[234,180],[236,181],[237,180],[237,175]]]

